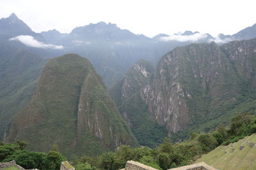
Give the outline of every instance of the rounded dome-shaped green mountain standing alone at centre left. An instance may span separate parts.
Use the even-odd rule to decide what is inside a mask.
[[[45,65],[30,103],[13,118],[8,141],[17,140],[40,152],[56,144],[67,157],[138,145],[92,64],[72,53]]]

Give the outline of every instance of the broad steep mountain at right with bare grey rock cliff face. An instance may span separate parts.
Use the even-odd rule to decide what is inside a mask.
[[[255,41],[175,48],[161,59],[152,81],[140,92],[150,114],[169,134],[192,131],[236,108],[246,101],[244,96],[252,97]]]

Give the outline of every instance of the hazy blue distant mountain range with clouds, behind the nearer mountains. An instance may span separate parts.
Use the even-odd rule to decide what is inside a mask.
[[[116,24],[97,24],[76,27],[70,34],[58,31],[33,32],[14,13],[0,20],[0,43],[27,48],[42,57],[55,57],[74,52],[91,60],[107,87],[124,77],[125,72],[140,59],[154,64],[176,46],[190,43],[227,43],[232,40],[255,38],[256,25],[247,27],[232,36],[219,34],[213,38],[200,32],[179,32],[173,35],[158,34],[148,38],[120,29]]]

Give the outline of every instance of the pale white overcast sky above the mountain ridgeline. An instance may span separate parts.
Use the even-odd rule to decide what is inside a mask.
[[[0,18],[11,13],[35,32],[104,21],[135,34],[199,31],[234,34],[256,23],[255,0],[0,0]]]

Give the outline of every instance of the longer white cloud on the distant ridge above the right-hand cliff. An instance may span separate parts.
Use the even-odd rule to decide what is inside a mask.
[[[172,36],[165,36],[165,37],[161,37],[159,38],[161,41],[198,41],[200,39],[205,39],[207,38],[207,34],[201,34],[201,33],[196,33],[193,35],[189,35],[189,36],[182,36],[180,34],[175,34]]]

